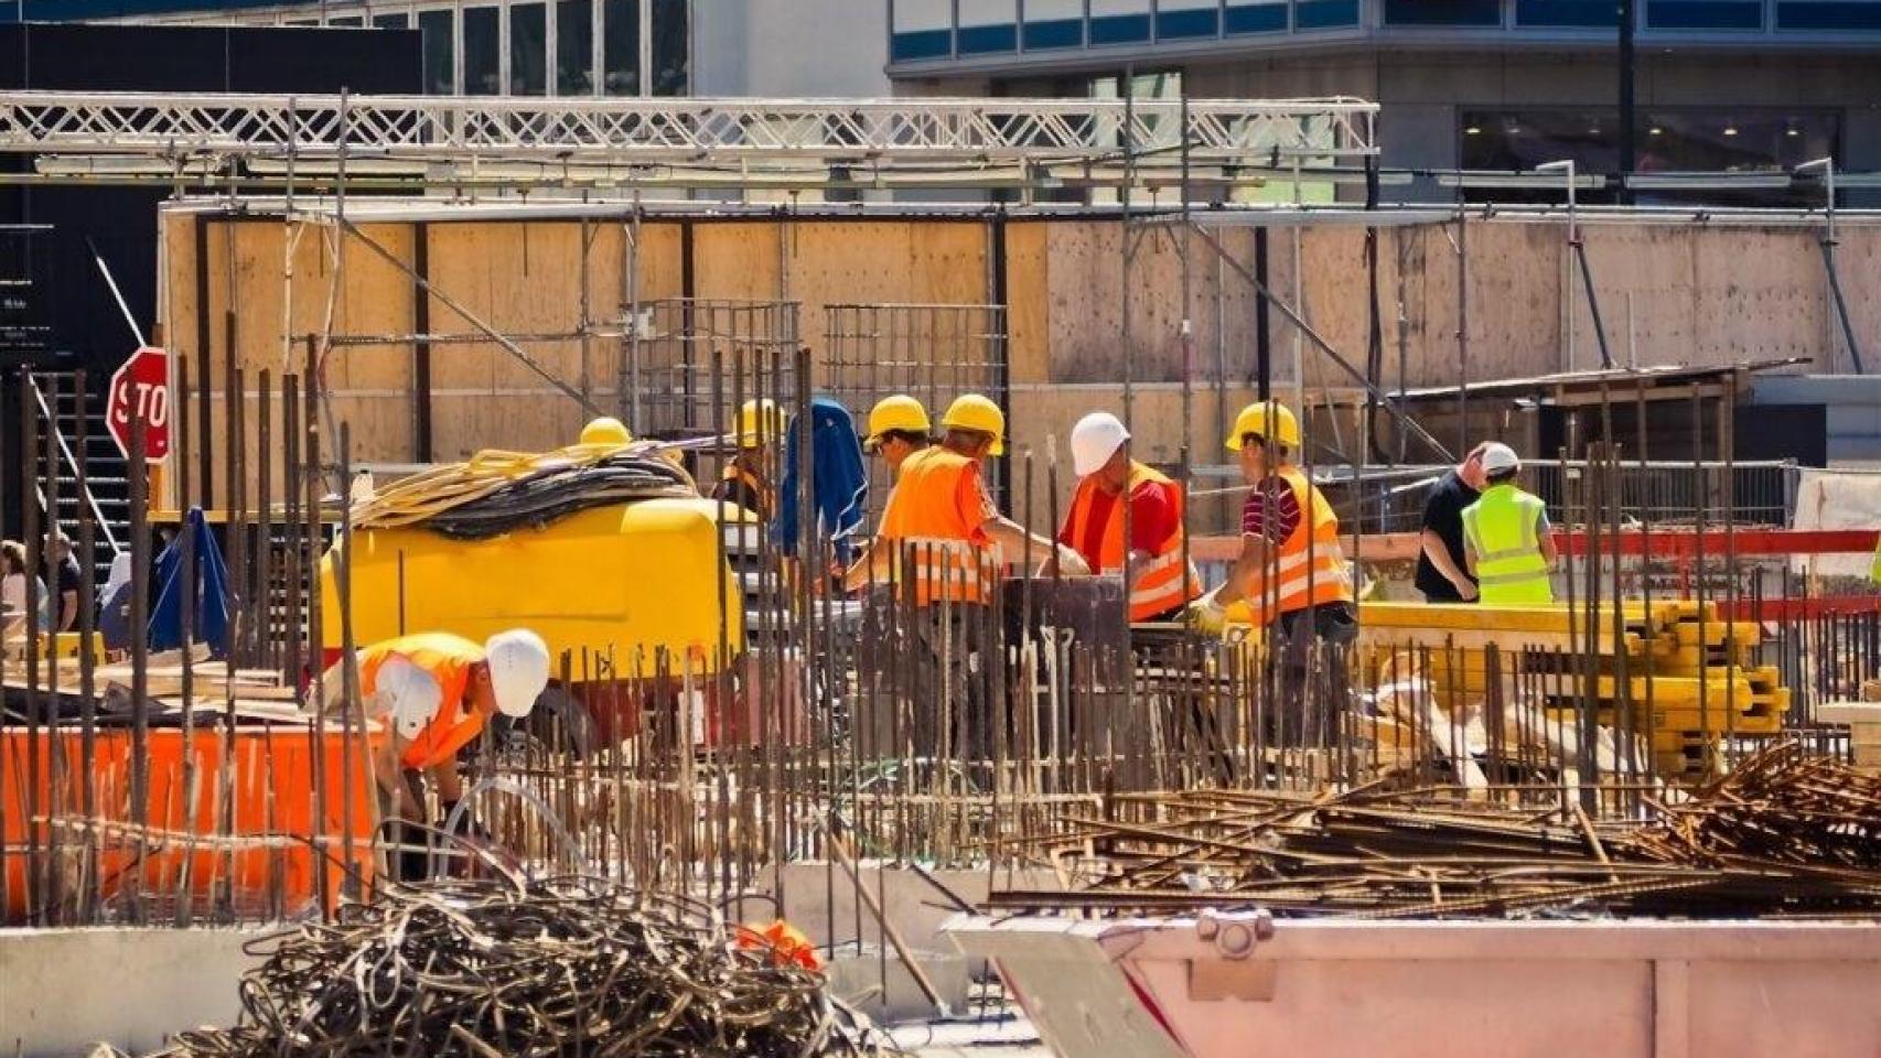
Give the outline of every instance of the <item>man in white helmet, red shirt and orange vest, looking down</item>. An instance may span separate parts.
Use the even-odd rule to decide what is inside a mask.
[[[1130,432],[1110,412],[1091,412],[1070,430],[1078,490],[1059,530],[1091,569],[1123,573],[1123,521],[1129,496],[1130,620],[1162,620],[1202,594],[1202,577],[1185,566],[1183,490],[1130,459]]]

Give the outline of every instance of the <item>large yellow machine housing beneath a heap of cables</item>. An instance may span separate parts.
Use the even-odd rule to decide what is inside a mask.
[[[529,628],[562,652],[615,658],[615,675],[713,673],[745,646],[737,579],[719,554],[719,504],[640,500],[593,507],[544,528],[451,539],[423,528],[354,532],[352,620],[359,645],[408,631],[482,641]],[[333,554],[320,562],[322,645],[340,646]],[[722,592],[722,594],[720,594]],[[720,637],[720,624],[724,628]]]

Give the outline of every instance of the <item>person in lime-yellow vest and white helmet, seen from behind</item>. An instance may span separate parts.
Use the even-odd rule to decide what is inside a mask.
[[[1554,536],[1541,496],[1516,485],[1522,459],[1505,443],[1482,447],[1482,498],[1463,507],[1463,554],[1486,607],[1554,605]]]

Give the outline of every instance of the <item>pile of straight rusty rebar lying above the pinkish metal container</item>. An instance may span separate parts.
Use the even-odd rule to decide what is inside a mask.
[[[1366,787],[1324,797],[1191,789],[1115,795],[1067,819],[1068,893],[1006,910],[1268,908],[1384,917],[1875,917],[1881,782],[1779,744],[1678,806],[1595,823]]]

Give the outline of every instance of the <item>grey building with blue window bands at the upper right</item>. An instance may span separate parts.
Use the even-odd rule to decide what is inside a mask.
[[[910,94],[1358,96],[1392,199],[1435,173],[1620,169],[1614,0],[884,0]],[[1635,0],[1635,171],[1881,171],[1881,0]],[[1697,180],[1702,188],[1702,180]],[[1706,197],[1808,201],[1808,188]],[[1821,201],[1819,192],[1815,201]],[[1873,192],[1845,205],[1877,205]]]

